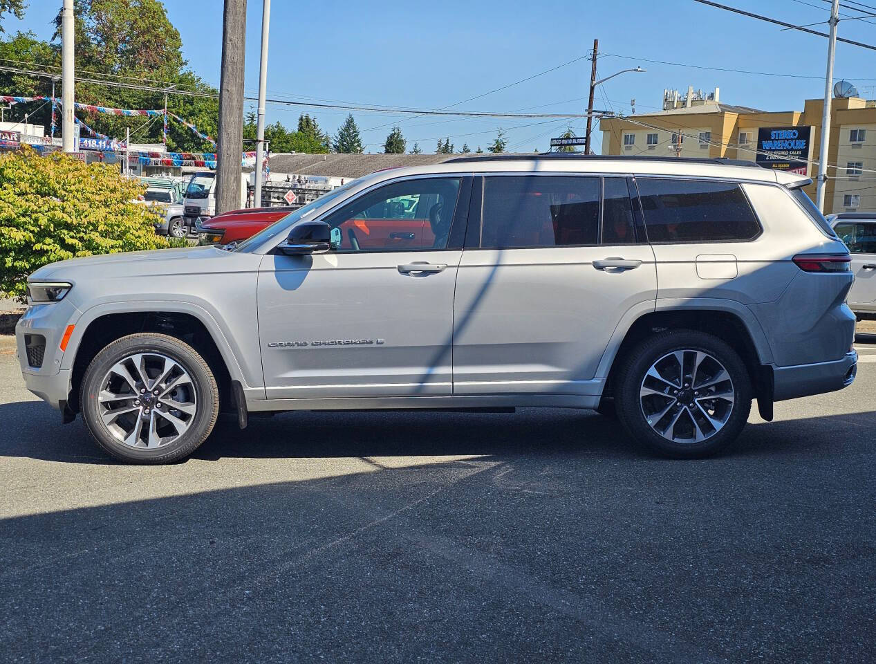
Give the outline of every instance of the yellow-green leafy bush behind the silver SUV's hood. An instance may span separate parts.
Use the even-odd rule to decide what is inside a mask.
[[[25,296],[27,275],[67,258],[161,249],[144,188],[116,166],[31,148],[0,156],[0,293]]]

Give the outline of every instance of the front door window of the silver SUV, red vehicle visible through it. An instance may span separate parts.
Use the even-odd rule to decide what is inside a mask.
[[[337,251],[444,249],[459,184],[459,178],[418,178],[359,196],[325,220],[341,230]]]

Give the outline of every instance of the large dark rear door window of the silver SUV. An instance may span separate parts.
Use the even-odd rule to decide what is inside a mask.
[[[597,244],[598,231],[598,178],[509,176],[484,181],[485,249]]]

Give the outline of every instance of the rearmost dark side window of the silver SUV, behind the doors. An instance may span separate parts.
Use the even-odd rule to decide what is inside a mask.
[[[641,178],[650,242],[748,240],[760,226],[736,183]]]

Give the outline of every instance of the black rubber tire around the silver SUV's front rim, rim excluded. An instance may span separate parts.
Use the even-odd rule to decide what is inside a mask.
[[[132,447],[117,438],[103,423],[99,410],[98,394],[105,386],[102,381],[107,373],[125,357],[137,353],[159,353],[179,364],[191,378],[196,397],[196,410],[187,430],[176,440],[152,449]],[[191,455],[213,430],[219,414],[219,388],[213,371],[194,348],[173,336],[145,332],[123,336],[97,353],[82,378],[80,404],[88,431],[109,455],[126,463],[174,463]]]

